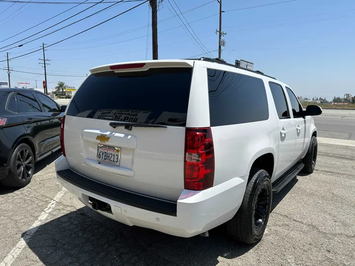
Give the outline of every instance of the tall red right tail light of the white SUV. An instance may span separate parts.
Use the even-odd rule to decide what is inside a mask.
[[[213,187],[214,150],[211,128],[186,128],[185,189]]]

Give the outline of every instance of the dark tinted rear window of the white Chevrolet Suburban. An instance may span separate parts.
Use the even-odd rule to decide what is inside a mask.
[[[152,68],[90,75],[75,93],[67,115],[185,126],[191,70]]]

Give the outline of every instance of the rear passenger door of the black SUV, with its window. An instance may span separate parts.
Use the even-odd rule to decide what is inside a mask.
[[[18,92],[17,98],[26,133],[33,138],[36,157],[39,157],[52,149],[52,118],[43,111],[32,92]]]

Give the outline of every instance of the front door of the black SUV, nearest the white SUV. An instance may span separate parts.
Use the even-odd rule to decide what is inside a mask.
[[[42,93],[35,93],[37,100],[42,108],[52,118],[52,141],[53,149],[60,146],[60,126],[64,112],[61,112],[60,106],[48,96]]]

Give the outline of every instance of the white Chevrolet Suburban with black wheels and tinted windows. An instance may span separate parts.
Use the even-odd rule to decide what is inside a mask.
[[[317,159],[317,129],[289,86],[222,60],[95,67],[62,120],[59,182],[129,226],[190,237],[225,224],[261,239],[272,194]]]

